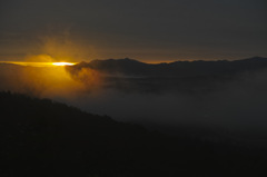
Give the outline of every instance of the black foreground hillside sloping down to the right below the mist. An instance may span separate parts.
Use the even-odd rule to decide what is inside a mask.
[[[0,176],[266,175],[261,147],[151,132],[10,92],[0,92]]]

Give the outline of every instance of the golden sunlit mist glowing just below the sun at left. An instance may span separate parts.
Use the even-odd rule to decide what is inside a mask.
[[[63,67],[28,67],[0,63],[0,89],[39,98],[71,97],[83,86],[73,81]]]

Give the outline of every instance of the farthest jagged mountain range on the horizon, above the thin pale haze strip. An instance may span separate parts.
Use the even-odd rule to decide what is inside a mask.
[[[134,59],[107,59],[80,62],[72,68],[90,68],[109,75],[146,77],[201,77],[230,75],[267,68],[267,58],[254,57],[243,60],[175,61],[169,63],[145,63]]]

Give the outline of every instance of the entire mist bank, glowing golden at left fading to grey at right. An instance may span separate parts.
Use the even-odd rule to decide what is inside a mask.
[[[119,121],[267,134],[267,69],[217,81],[210,90],[202,89],[210,88],[206,83],[185,86],[192,91],[175,89],[172,85],[157,89],[155,85],[135,81],[123,81],[121,89],[121,83],[111,86],[113,80],[100,71],[85,68],[73,75],[65,67],[1,65],[0,71],[1,90],[50,98]]]

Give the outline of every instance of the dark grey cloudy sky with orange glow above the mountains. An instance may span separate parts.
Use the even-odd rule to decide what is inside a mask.
[[[266,0],[0,0],[0,60],[267,57]]]

